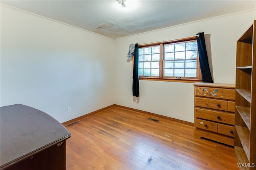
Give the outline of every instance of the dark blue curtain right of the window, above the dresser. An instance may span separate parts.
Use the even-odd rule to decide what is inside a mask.
[[[208,56],[206,52],[206,45],[204,40],[204,32],[196,34],[199,63],[202,73],[203,82],[213,83],[212,75],[210,72]]]

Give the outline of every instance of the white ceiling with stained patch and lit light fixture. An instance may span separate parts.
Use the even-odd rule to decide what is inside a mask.
[[[113,39],[256,8],[256,0],[1,0]]]

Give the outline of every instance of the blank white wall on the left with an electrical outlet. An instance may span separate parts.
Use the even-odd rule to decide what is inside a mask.
[[[64,122],[114,104],[113,42],[1,5],[1,106],[24,104]]]

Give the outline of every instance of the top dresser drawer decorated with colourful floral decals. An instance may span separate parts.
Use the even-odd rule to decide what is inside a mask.
[[[195,96],[235,100],[235,89],[195,87]]]

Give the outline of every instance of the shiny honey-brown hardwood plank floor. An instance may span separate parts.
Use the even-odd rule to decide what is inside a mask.
[[[161,117],[112,107],[66,127],[67,170],[238,170],[232,147]]]

